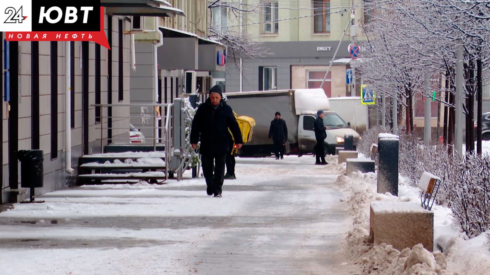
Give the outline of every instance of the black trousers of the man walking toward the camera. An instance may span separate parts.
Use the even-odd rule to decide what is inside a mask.
[[[209,193],[221,194],[221,187],[224,180],[224,164],[226,161],[226,153],[211,155],[206,154],[201,156],[202,173],[206,179],[207,190]],[[213,173],[214,164],[214,173]]]

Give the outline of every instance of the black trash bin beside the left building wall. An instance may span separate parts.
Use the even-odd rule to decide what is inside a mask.
[[[43,187],[43,150],[19,150],[21,161],[21,187]]]

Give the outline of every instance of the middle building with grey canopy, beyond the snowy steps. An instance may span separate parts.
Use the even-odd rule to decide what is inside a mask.
[[[208,1],[168,2],[183,13],[168,18],[132,19],[130,32],[134,34],[136,51],[130,71],[132,104],[172,103],[182,93],[209,91],[214,85],[212,72],[224,72],[225,64],[217,60],[226,54],[226,48],[208,39]],[[162,45],[158,44],[160,37]],[[147,107],[131,109],[131,123],[145,135],[146,142],[152,142],[154,137],[153,119],[148,119],[153,112]],[[162,120],[158,123],[161,126]],[[157,135],[161,137],[161,131]]]

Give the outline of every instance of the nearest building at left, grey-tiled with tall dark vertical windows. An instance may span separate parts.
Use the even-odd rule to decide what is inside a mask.
[[[75,185],[80,156],[100,153],[101,144],[129,141],[128,107],[103,108],[101,112],[91,105],[130,102],[130,35],[126,34],[130,29],[129,17],[175,16],[178,9],[147,5],[139,0],[101,0],[101,5],[106,7],[104,28],[111,49],[93,42],[6,42],[5,33],[1,33],[0,63],[2,69],[7,69],[4,61],[8,58],[9,69],[0,80],[3,99],[0,204],[17,202],[29,195],[28,189],[20,184],[19,150],[43,150],[44,187],[36,188],[38,195]],[[67,49],[70,68],[65,68]],[[66,105],[68,75],[71,100]],[[6,82],[8,85],[4,86]],[[70,129],[65,127],[68,114]],[[107,119],[108,115],[113,118]],[[102,121],[101,116],[105,117]],[[65,142],[67,131],[71,144]],[[70,161],[67,148],[71,149]]]

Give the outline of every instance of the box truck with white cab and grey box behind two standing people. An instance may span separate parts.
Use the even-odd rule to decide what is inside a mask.
[[[325,112],[323,123],[329,127],[325,138],[326,153],[334,154],[336,147],[342,147],[345,134],[353,135],[354,146],[359,140],[359,134],[350,128],[349,121],[330,110],[329,99],[322,89],[227,92],[224,95],[233,111],[255,119],[252,141],[242,147],[241,156],[269,156],[273,152],[269,127],[275,112],[281,113],[288,127],[287,153],[313,153],[316,144],[313,124],[318,110]]]

